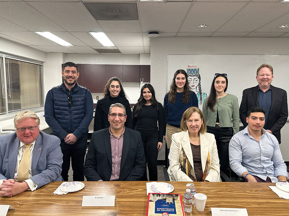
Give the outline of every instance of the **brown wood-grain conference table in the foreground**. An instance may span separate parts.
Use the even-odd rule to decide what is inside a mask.
[[[84,181],[85,187],[66,195],[52,192],[61,182],[52,182],[31,192],[25,191],[13,197],[0,197],[0,204],[10,204],[15,209],[7,215],[17,216],[78,216],[78,215],[146,215],[147,194],[145,181]],[[188,182],[168,182],[182,197]],[[186,215],[212,215],[211,207],[246,208],[248,215],[289,215],[289,200],[279,198],[268,185],[274,183],[244,182],[195,182],[197,193],[206,194],[208,199],[203,212],[194,207]],[[81,207],[82,196],[115,195],[115,206]]]

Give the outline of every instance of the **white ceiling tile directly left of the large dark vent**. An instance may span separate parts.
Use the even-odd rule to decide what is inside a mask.
[[[67,31],[102,31],[97,21],[80,2],[29,2],[29,4]]]

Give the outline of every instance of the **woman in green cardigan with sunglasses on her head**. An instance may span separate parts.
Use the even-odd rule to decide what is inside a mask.
[[[225,93],[227,87],[227,74],[216,73],[210,95],[203,103],[203,114],[207,132],[215,135],[220,170],[229,176],[229,142],[239,131],[239,105],[235,95]]]

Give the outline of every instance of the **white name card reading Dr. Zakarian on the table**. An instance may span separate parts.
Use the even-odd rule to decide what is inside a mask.
[[[114,206],[115,196],[82,196],[81,206]]]

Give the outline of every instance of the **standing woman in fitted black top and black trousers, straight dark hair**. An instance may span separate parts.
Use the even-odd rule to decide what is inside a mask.
[[[162,148],[164,132],[164,108],[155,99],[155,91],[151,84],[144,84],[140,91],[138,103],[134,105],[133,129],[140,132],[144,154],[149,169],[149,181],[158,181],[157,159]],[[140,179],[147,181],[147,169]]]

